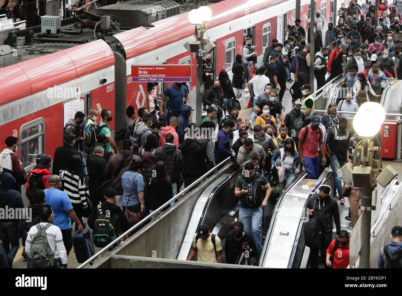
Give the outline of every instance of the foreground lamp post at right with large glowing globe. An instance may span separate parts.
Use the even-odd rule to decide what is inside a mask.
[[[371,205],[372,200],[372,176],[373,168],[378,165],[373,160],[373,153],[377,147],[369,140],[381,128],[385,119],[384,107],[379,103],[363,103],[355,117],[353,118],[353,128],[357,134],[363,138],[363,168],[355,166],[353,168],[353,183],[361,187],[361,249],[359,268],[369,268],[370,265],[370,230],[371,230]],[[357,147],[356,147],[357,149]],[[359,165],[359,164],[357,164]],[[378,170],[374,170],[378,174]],[[359,183],[359,184],[357,184]]]

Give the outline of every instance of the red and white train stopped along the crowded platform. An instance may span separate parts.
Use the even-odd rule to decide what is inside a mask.
[[[346,1],[349,2],[349,1]],[[301,0],[301,21],[306,27],[309,0]],[[338,0],[338,4],[340,1]],[[259,59],[265,46],[283,41],[287,24],[295,20],[295,0],[226,0],[211,4],[207,37],[215,41],[215,73],[229,73],[236,54],[242,53],[244,36],[251,32]],[[333,0],[316,0],[326,23]],[[339,7],[339,5],[338,5]],[[109,109],[111,130],[125,120],[125,109],[148,104],[146,83],[131,82],[131,65],[196,64],[183,45],[193,40],[194,25],[188,12],[115,34],[124,54],[103,40],[92,41],[0,69],[0,139],[18,137],[19,157],[29,171],[38,153],[51,155],[63,144],[63,126],[75,111]],[[324,27],[326,28],[326,26]],[[196,67],[192,67],[196,81]],[[168,85],[160,85],[160,91]],[[190,105],[195,105],[195,83],[190,85]],[[98,118],[99,123],[99,118]],[[4,143],[4,142],[2,142]]]

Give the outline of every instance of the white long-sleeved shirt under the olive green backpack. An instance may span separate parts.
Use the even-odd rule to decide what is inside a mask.
[[[46,226],[46,222],[39,223],[41,226]],[[38,232],[38,228],[36,225],[32,226],[28,232],[27,240],[25,241],[25,252],[29,257],[31,257],[31,243],[33,238]],[[46,230],[46,237],[49,247],[54,252],[54,258],[57,259],[60,257],[63,264],[67,263],[67,252],[63,243],[62,231],[55,225],[50,226]]]

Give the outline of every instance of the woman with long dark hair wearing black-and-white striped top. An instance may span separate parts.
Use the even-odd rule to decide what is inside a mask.
[[[82,159],[80,155],[73,155],[70,159],[70,165],[62,171],[60,179],[63,183],[63,191],[67,193],[81,224],[82,212],[87,209],[89,204],[89,193],[84,183],[84,169],[82,168]],[[78,229],[78,226],[75,226]]]

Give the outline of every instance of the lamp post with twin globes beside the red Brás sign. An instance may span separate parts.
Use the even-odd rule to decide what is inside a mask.
[[[197,126],[201,125],[202,114],[202,94],[205,91],[202,81],[203,72],[203,57],[206,53],[215,48],[215,44],[209,42],[208,39],[204,39],[205,23],[212,17],[211,8],[208,6],[200,6],[197,9],[193,9],[189,12],[189,21],[194,25],[195,41],[189,41],[185,44],[185,48],[189,52],[193,52],[195,58],[197,58],[197,86],[196,86],[196,98],[195,98],[195,123]],[[212,44],[211,44],[212,43]]]

